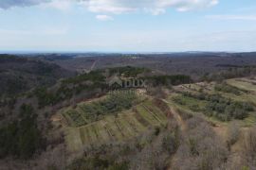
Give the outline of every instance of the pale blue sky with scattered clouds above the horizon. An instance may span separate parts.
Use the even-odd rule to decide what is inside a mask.
[[[256,1],[0,0],[0,51],[256,51]]]

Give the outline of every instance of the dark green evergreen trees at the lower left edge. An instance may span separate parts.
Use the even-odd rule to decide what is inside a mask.
[[[37,151],[45,148],[39,128],[37,114],[30,105],[22,105],[18,120],[0,127],[0,158],[11,156],[29,159]]]

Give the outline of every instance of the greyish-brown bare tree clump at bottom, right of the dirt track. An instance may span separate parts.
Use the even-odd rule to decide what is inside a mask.
[[[183,134],[171,169],[222,169],[228,150],[213,129],[204,120],[193,117]]]

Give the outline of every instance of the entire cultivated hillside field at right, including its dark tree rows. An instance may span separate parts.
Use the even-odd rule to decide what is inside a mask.
[[[209,95],[211,98],[205,99],[204,95]],[[215,125],[227,125],[233,120],[240,122],[243,127],[256,124],[256,83],[253,78],[229,79],[222,84],[201,82],[176,86],[174,93],[169,95],[168,102],[181,112],[200,115]],[[223,104],[225,102],[229,104]],[[234,109],[227,110],[231,107]],[[229,117],[227,121],[223,121],[226,120],[226,117],[222,117],[226,112],[231,112],[231,116],[233,112],[243,112],[246,116],[245,118]]]

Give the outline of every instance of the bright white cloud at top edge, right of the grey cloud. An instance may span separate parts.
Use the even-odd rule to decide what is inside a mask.
[[[210,8],[218,0],[80,0],[88,10],[101,13],[150,12],[154,15],[164,13],[167,8],[178,11]]]

